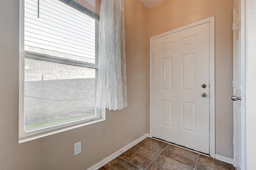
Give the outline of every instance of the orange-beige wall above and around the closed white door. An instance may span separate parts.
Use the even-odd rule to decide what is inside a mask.
[[[233,0],[165,0],[147,13],[148,78],[150,37],[215,16],[216,154],[228,158],[233,158],[232,7]],[[149,117],[147,122],[149,132]]]

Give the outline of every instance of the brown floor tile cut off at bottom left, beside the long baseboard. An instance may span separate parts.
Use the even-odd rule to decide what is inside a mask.
[[[120,157],[117,157],[108,162],[106,165],[102,166],[99,170],[140,170],[140,168],[130,164]]]

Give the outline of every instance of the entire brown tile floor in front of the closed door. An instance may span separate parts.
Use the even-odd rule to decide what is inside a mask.
[[[234,170],[233,165],[146,138],[99,170]]]

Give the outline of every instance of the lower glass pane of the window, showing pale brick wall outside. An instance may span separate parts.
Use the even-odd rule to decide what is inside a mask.
[[[95,69],[25,58],[25,130],[94,117]]]

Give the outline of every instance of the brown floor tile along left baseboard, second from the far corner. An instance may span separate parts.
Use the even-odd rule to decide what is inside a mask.
[[[127,160],[143,170],[148,167],[156,156],[158,156],[158,154],[137,145],[120,155],[124,160]]]

